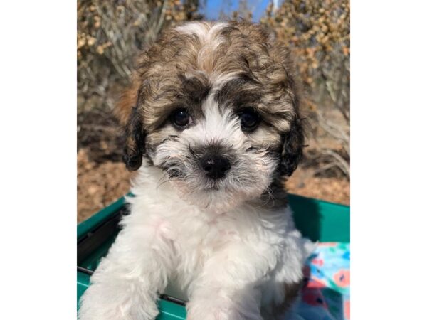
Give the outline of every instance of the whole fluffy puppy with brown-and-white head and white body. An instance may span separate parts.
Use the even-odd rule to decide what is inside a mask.
[[[186,23],[137,61],[118,112],[131,213],[80,302],[81,320],[154,319],[174,282],[187,319],[275,319],[307,241],[282,181],[304,134],[286,48],[251,23]]]

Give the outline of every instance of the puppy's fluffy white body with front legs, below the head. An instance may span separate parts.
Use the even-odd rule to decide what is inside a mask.
[[[157,292],[168,284],[169,294],[188,297],[187,319],[272,319],[265,314],[292,296],[287,288],[302,281],[312,248],[290,210],[241,203],[209,212],[179,198],[162,176],[152,166],[139,170],[131,213],[91,277],[79,319],[155,319]]]

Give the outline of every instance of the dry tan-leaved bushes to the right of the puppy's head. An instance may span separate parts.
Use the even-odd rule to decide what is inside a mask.
[[[317,175],[341,173],[349,179],[349,1],[286,0],[275,10],[270,4],[261,23],[292,48],[305,85],[305,112],[317,138],[306,165],[315,166]],[[329,139],[319,139],[325,135]]]

